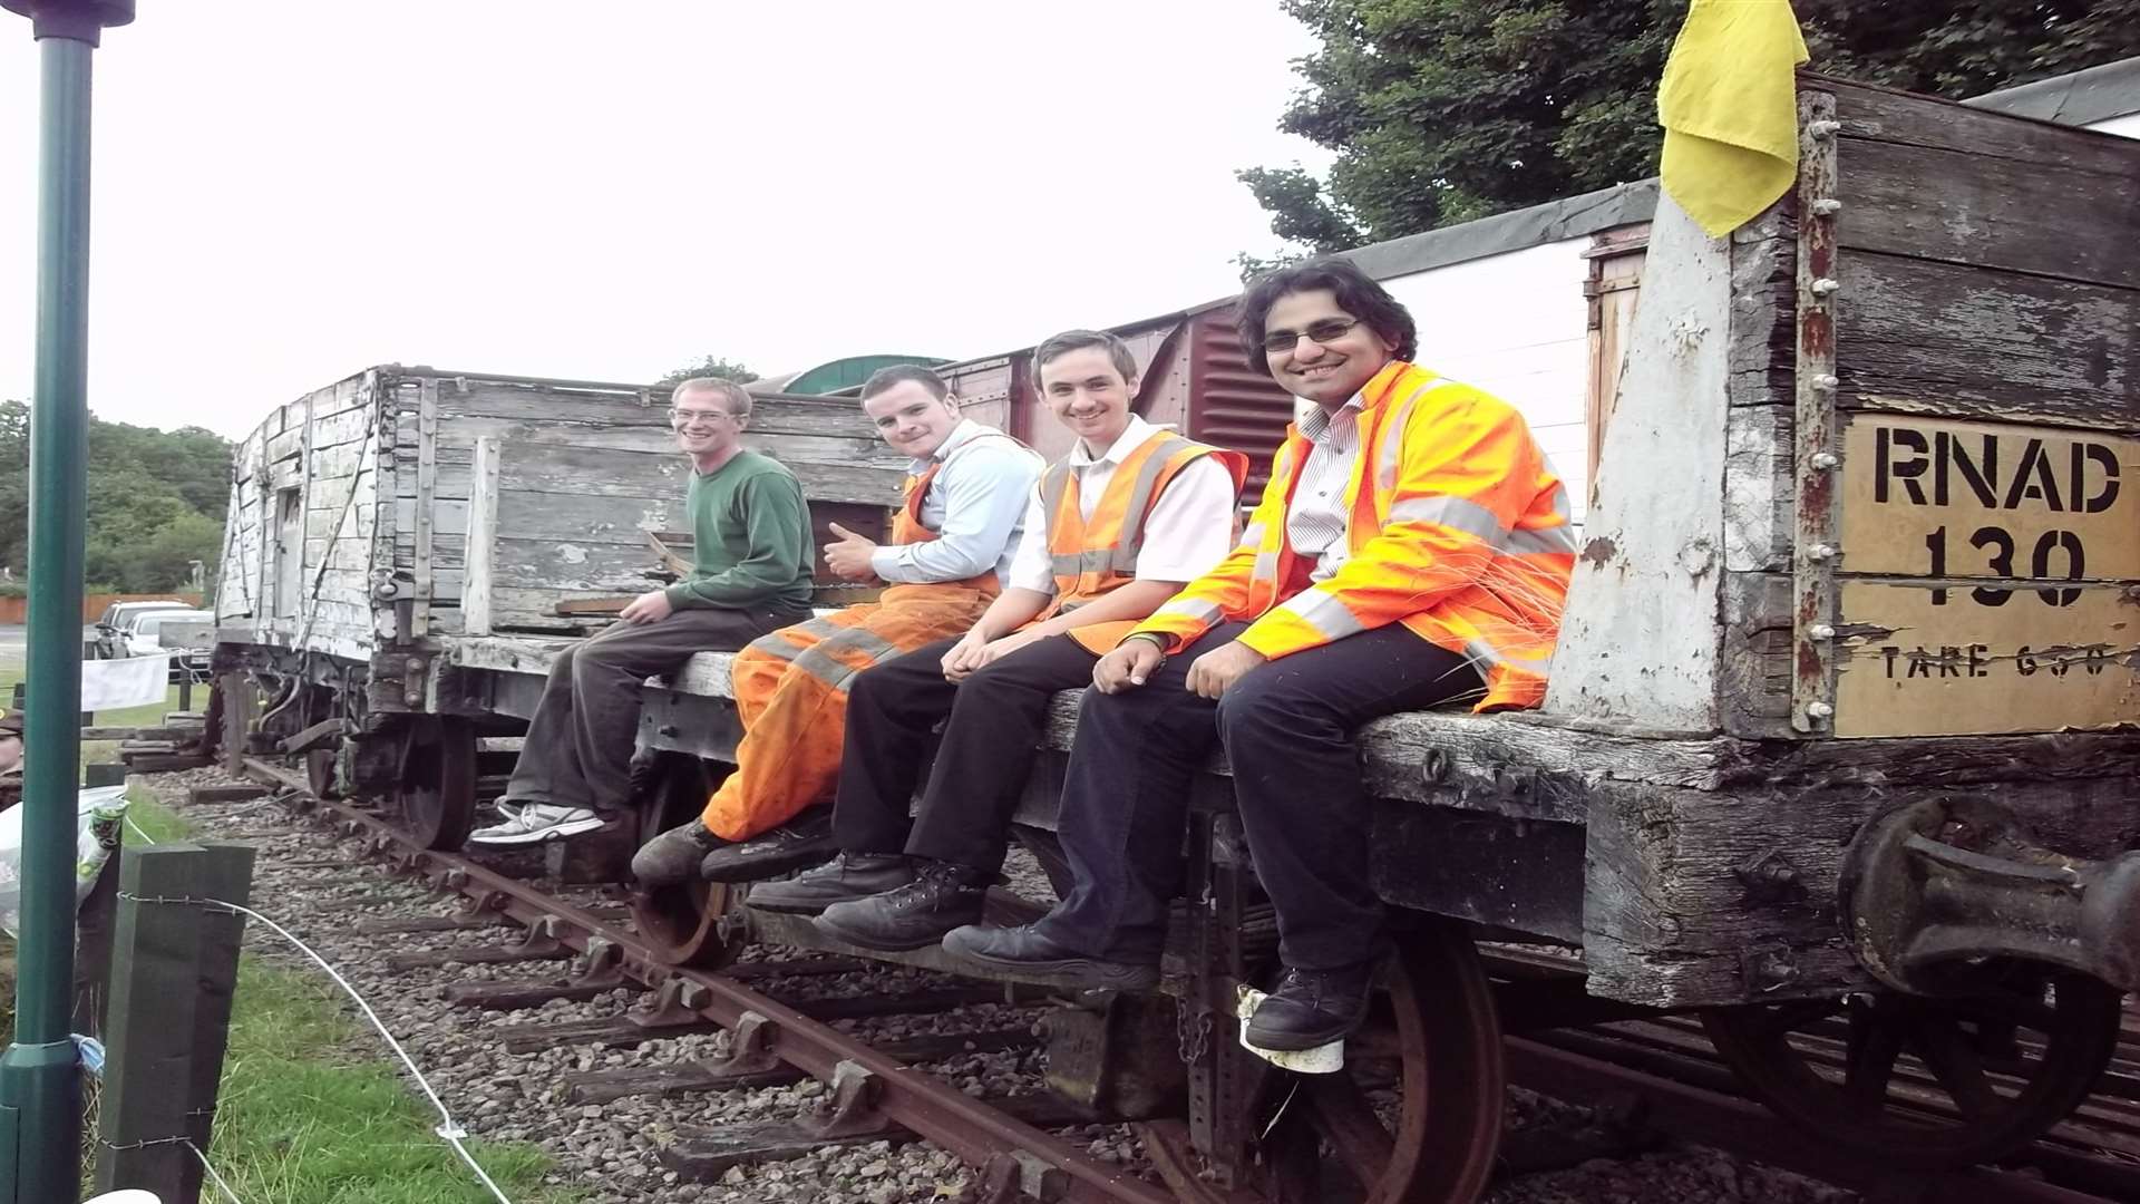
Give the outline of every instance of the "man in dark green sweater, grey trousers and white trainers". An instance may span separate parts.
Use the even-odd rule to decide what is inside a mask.
[[[633,598],[616,626],[559,653],[499,799],[505,818],[471,842],[539,844],[599,829],[631,788],[640,683],[696,653],[736,651],[809,619],[802,484],[779,461],[743,448],[749,420],[751,394],[738,383],[676,386],[670,424],[676,450],[691,456],[691,576]]]

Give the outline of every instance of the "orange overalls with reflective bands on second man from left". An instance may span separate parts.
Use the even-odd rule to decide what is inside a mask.
[[[907,478],[905,503],[892,518],[895,544],[937,538],[922,527],[922,499],[942,467],[937,461]],[[965,581],[892,585],[877,602],[751,641],[732,668],[743,720],[736,771],[706,799],[700,816],[706,829],[723,840],[747,840],[830,797],[847,733],[847,679],[965,632],[999,591],[993,568]]]

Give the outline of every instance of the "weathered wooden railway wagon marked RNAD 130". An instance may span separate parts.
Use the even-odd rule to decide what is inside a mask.
[[[1778,1112],[1922,1165],[2027,1140],[2108,1060],[2140,966],[2140,146],[1810,75],[1800,107],[1774,210],[1725,240],[1654,212],[1545,707],[1363,728],[1400,947],[1308,1090],[1230,1039],[1271,928],[1209,767],[1173,1003],[1104,1000],[1085,1060],[1179,1054],[1186,1198],[1318,1198],[1288,1172],[1316,1138],[1370,1200],[1477,1195],[1502,1018],[1699,1011]],[[725,688],[693,660],[642,735],[717,763]],[[1019,816],[1044,866],[1072,720]],[[725,887],[638,910],[672,960],[824,945]],[[1564,947],[1581,990],[1489,983],[1474,938]]]

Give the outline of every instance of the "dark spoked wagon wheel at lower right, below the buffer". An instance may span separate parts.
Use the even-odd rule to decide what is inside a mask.
[[[1900,992],[1701,1013],[1716,1052],[1785,1120],[1868,1161],[1952,1168],[2029,1144],[2116,1052],[2121,992],[2005,970],[1969,998]]]

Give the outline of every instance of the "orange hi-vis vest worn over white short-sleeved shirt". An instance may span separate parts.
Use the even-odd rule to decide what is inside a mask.
[[[1049,516],[1049,555],[1055,561],[1055,602],[1034,615],[1027,623],[1040,623],[1066,611],[1104,598],[1115,589],[1136,581],[1136,557],[1145,551],[1145,523],[1160,503],[1166,486],[1181,469],[1203,456],[1216,456],[1233,476],[1233,491],[1241,493],[1248,480],[1248,456],[1228,448],[1211,448],[1183,439],[1171,431],[1153,431],[1128,456],[1115,465],[1100,491],[1100,501],[1085,516],[1079,497],[1076,469],[1070,461],[1057,461],[1040,478],[1040,510]],[[1121,643],[1121,636],[1136,628],[1136,619],[1089,623],[1064,632],[1094,656]]]

